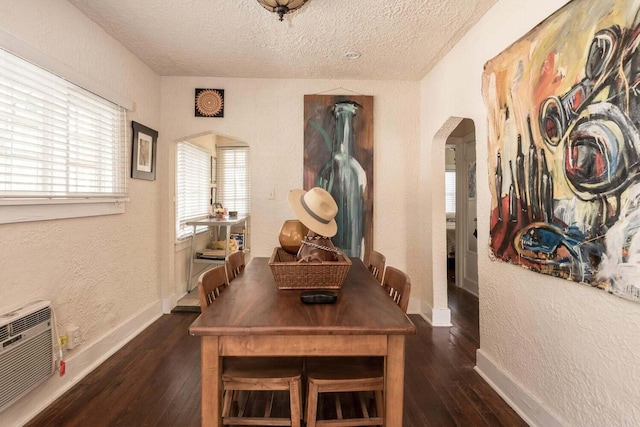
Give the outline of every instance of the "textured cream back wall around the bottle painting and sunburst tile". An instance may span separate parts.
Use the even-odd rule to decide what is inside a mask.
[[[223,119],[194,117],[197,87],[225,90]],[[331,90],[337,87],[347,89]],[[423,282],[415,250],[419,88],[417,82],[163,77],[161,133],[175,141],[213,131],[249,144],[252,256],[270,256],[279,245],[282,223],[293,218],[287,194],[302,188],[303,96],[324,91],[373,95],[374,249],[387,256],[388,264],[408,270],[417,298]],[[161,168],[174,169],[170,155],[161,157],[167,162]],[[173,181],[169,175],[163,179],[164,205],[172,209]],[[268,200],[272,189],[275,200]],[[173,211],[166,214],[173,216]],[[163,239],[171,243],[172,229],[167,230]],[[181,295],[183,287],[175,285]]]

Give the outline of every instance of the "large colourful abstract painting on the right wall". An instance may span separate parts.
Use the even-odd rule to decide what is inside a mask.
[[[635,301],[639,9],[570,2],[483,75],[493,256]]]

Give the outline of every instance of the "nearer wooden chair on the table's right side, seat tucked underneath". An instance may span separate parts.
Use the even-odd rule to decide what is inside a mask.
[[[384,272],[383,289],[399,308],[407,312],[411,294],[411,280],[403,271],[387,267]],[[384,359],[381,357],[316,357],[306,359],[307,427],[384,424]],[[361,418],[343,418],[343,405],[339,393],[356,392]],[[367,404],[365,392],[373,392],[375,416]],[[335,393],[334,404],[337,419],[318,420],[318,400],[321,393]]]

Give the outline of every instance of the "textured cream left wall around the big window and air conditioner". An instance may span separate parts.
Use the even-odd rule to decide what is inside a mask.
[[[134,101],[129,118],[158,129],[160,78],[68,2],[2,0],[0,29]],[[131,202],[121,215],[0,225],[0,306],[51,300],[62,328],[83,332],[67,375],[2,412],[0,425],[20,424],[122,344],[125,329],[161,314],[160,183],[127,185]]]

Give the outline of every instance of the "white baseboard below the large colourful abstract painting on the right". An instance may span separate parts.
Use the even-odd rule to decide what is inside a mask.
[[[555,416],[500,370],[481,349],[476,351],[474,369],[531,427],[562,427]]]

